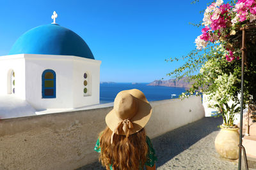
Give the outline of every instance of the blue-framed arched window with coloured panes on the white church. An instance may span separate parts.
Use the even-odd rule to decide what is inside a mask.
[[[42,74],[42,97],[56,98],[56,73],[46,69]]]

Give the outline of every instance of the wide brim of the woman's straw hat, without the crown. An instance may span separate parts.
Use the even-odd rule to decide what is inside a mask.
[[[130,130],[129,134],[134,134],[139,132],[145,125],[147,124],[148,120],[152,114],[152,107],[148,103],[147,99],[141,100],[134,96],[137,101],[138,110],[134,117],[130,119],[133,125],[133,129]],[[120,119],[116,117],[115,110],[109,111],[108,115],[106,115],[106,124],[108,125],[109,129],[113,132],[120,122]],[[125,135],[124,131],[119,132],[121,135]]]

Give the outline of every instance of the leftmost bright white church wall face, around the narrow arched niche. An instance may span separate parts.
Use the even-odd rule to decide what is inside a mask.
[[[0,95],[8,94],[10,80],[8,73],[13,69],[15,73],[15,96],[26,99],[25,93],[25,60],[24,54],[6,55],[0,57]]]

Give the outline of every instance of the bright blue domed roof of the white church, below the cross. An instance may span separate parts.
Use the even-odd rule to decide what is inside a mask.
[[[19,53],[75,55],[94,59],[90,48],[79,35],[58,24],[41,25],[22,34],[9,55]]]

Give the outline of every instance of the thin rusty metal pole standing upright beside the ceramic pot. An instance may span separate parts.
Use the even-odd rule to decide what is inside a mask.
[[[241,73],[241,111],[240,111],[239,146],[242,146],[242,135],[243,135],[245,27],[243,27],[242,30],[243,30],[243,38],[242,38],[242,48],[241,48],[241,50],[242,50],[242,73]],[[239,170],[241,170],[241,157],[242,157],[241,151],[242,151],[242,148],[239,147],[239,161],[238,161],[238,169]],[[244,154],[245,154],[245,152],[244,152]]]

